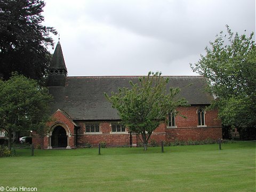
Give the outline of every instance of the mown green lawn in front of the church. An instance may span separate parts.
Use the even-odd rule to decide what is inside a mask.
[[[255,141],[218,145],[17,150],[0,187],[37,191],[255,191]],[[20,191],[20,190],[18,190]]]

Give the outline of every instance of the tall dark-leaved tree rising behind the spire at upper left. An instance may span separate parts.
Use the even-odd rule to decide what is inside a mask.
[[[50,65],[47,46],[53,46],[52,27],[42,25],[44,1],[0,0],[0,75],[13,71],[42,81]]]

